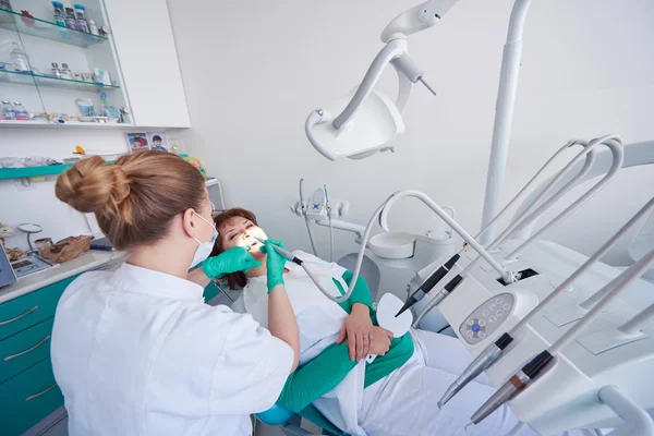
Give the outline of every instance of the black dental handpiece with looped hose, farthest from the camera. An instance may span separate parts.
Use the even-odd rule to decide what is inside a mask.
[[[581,144],[584,147],[589,146],[588,142],[581,141],[581,140],[572,140],[569,141],[566,145],[564,145],[561,148],[559,148],[559,150],[557,150],[550,158],[549,160],[547,160],[547,162],[545,162],[545,165],[543,167],[541,167],[541,169],[534,174],[534,177],[532,177],[532,179],[522,187],[522,190],[520,190],[520,192],[505,206],[505,208],[491,221],[488,222],[488,225],[482,229],[475,237],[475,240],[480,240],[480,238],[488,230],[491,229],[491,227],[499,219],[504,216],[505,213],[507,213],[512,206],[513,204],[529,190],[531,189],[531,186],[534,184],[534,182],[536,181],[536,179],[538,178],[538,175],[541,175],[541,173],[543,173],[545,171],[545,169],[560,155],[562,154],[565,150],[569,149],[570,147],[577,145],[577,144]],[[589,149],[589,152],[586,152],[588,154],[585,155],[585,162],[584,166],[582,168],[582,170],[569,182],[567,183],[565,186],[562,186],[561,190],[559,190],[553,197],[557,197],[557,195],[562,195],[565,194],[569,189],[571,189],[573,186],[573,184],[578,181],[581,180],[581,178],[583,178],[592,168],[594,161],[595,161],[595,155],[594,155],[594,150],[592,149],[592,147]],[[577,161],[578,158],[580,158],[581,156],[583,156],[583,153],[578,155],[568,166],[566,166],[560,172],[559,175],[557,175],[556,181],[560,180],[562,177],[565,177],[572,168],[573,164]],[[533,201],[532,203],[525,208],[525,210],[520,214],[519,217],[517,217],[517,219],[514,220],[514,222],[518,222],[520,225],[526,223],[526,219],[522,220],[526,214],[529,214],[531,210],[533,210],[533,208],[538,204],[538,202],[545,197],[547,194],[549,194],[549,191],[552,191],[554,189],[555,185],[555,181],[553,181],[553,183],[549,183],[544,190],[543,192],[541,192]],[[557,197],[558,198],[558,197]],[[532,219],[535,219],[536,215],[532,215]],[[383,226],[384,227],[384,226]],[[508,237],[509,234],[507,234]],[[443,265],[440,268],[438,268],[427,280],[425,280],[425,282],[408,299],[407,304],[404,304],[404,306],[402,307],[402,310],[398,313],[398,316],[407,311],[408,308],[410,308],[411,306],[413,306],[414,304],[416,304],[417,302],[420,302],[446,275],[447,272],[451,269],[450,267],[447,267],[446,265],[452,265],[460,258],[460,256],[465,253],[468,251],[468,247],[461,250],[459,253],[457,253],[455,256],[452,256],[445,265]],[[445,268],[444,268],[445,267]],[[436,295],[434,298],[434,300],[431,302],[429,304],[429,310],[432,310],[434,306],[438,305],[453,289],[456,289],[456,287],[461,282],[461,276],[457,276],[456,280],[449,282],[444,290],[441,290],[441,292]],[[428,282],[428,284],[426,284]],[[423,311],[424,314],[426,314],[428,311],[425,310]],[[424,315],[423,315],[424,316]],[[414,322],[414,326],[416,326],[420,320],[422,319],[423,316],[419,316],[415,322]]]

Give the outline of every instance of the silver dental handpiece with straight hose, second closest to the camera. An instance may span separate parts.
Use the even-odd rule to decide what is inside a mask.
[[[570,289],[577,280],[585,274],[591,267],[602,258],[616,243],[631,229],[633,228],[643,217],[654,210],[654,198],[650,199],[620,230],[617,231],[592,257],[590,257],[582,266],[580,266],[570,277],[568,277],[558,288],[556,288],[549,295],[543,300],[543,302],[534,307],[524,318],[522,318],[509,332],[502,334],[499,339],[488,344],[477,355],[477,358],[463,371],[463,373],[450,385],[446,390],[445,395],[438,401],[438,407],[443,408],[455,395],[457,395],[465,385],[474,380],[481,373],[492,367],[502,355],[504,350],[513,341],[513,337],[521,328],[528,325],[528,323],[534,318],[535,315],[541,313],[547,307],[558,295],[564,291]],[[606,288],[610,291],[610,288]],[[601,294],[602,291],[595,293]]]

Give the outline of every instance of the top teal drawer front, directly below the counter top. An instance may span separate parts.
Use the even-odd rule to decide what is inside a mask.
[[[0,304],[0,340],[55,316],[57,302],[77,276]]]

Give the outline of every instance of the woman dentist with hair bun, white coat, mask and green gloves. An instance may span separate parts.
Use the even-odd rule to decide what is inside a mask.
[[[56,195],[94,213],[129,261],[73,281],[52,331],[55,377],[76,435],[250,435],[298,365],[284,259],[267,252],[269,326],[204,304],[211,277],[261,266],[244,249],[207,259],[217,231],[204,179],[162,152],[82,159]],[[267,250],[266,250],[267,249]],[[203,267],[187,271],[203,262]],[[203,276],[203,277],[199,277]]]

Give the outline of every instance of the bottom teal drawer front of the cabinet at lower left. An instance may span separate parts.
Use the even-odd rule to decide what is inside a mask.
[[[19,436],[63,404],[50,359],[0,385],[0,434]]]

